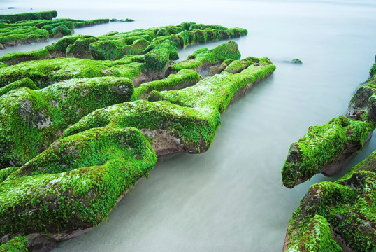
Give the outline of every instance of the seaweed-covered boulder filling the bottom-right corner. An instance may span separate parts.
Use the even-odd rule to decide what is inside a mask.
[[[338,181],[310,187],[289,221],[284,251],[375,251],[375,202],[376,152]]]

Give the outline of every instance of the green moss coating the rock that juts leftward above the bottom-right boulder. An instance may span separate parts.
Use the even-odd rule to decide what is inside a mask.
[[[311,126],[308,132],[291,144],[289,155],[282,169],[282,181],[287,188],[310,179],[321,172],[324,165],[337,162],[349,146],[356,150],[363,147],[373,125],[354,121],[345,116],[333,118],[321,126]],[[351,153],[347,153],[347,156]]]

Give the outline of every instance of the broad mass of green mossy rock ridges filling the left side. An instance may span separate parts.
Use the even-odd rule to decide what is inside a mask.
[[[157,158],[207,151],[221,113],[275,66],[233,41],[173,60],[246,34],[187,22],[1,57],[0,248],[49,251],[108,218]]]

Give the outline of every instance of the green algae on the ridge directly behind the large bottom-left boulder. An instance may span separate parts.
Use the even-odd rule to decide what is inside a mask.
[[[219,127],[219,113],[196,110],[169,102],[139,100],[99,109],[69,127],[63,137],[77,134],[94,127],[136,127],[144,132],[152,144],[159,132],[176,140],[176,148],[187,153],[203,153],[208,150]]]

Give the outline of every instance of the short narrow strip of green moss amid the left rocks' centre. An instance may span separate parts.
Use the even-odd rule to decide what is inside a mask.
[[[147,99],[152,90],[175,90],[194,85],[201,76],[194,70],[183,69],[177,74],[171,74],[162,80],[143,83],[135,89],[137,99]]]

